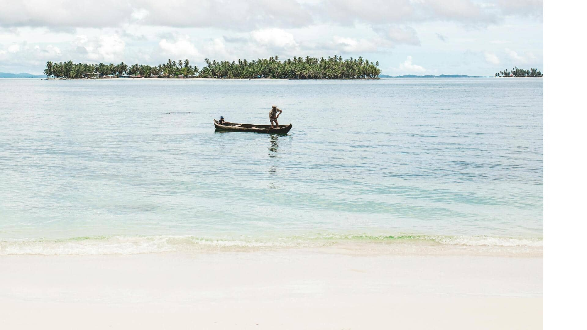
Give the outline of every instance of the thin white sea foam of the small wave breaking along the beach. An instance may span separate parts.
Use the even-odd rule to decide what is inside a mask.
[[[379,244],[376,244],[379,243]],[[306,237],[266,239],[212,239],[194,236],[110,236],[77,237],[63,240],[4,240],[0,255],[110,255],[161,252],[258,251],[284,248],[321,248],[332,245],[362,244],[363,246],[404,247],[490,247],[542,248],[542,238],[507,238],[488,236],[442,235],[341,235],[326,234]],[[511,250],[511,249],[509,249]],[[397,251],[394,250],[394,251]]]

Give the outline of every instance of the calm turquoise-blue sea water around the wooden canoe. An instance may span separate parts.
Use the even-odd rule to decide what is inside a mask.
[[[80,237],[542,237],[542,79],[0,90],[0,250]],[[272,104],[289,134],[214,132],[221,115],[268,124]]]

